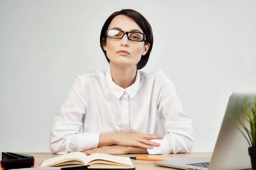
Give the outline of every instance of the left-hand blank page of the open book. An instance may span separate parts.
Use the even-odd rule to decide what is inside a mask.
[[[40,167],[46,167],[49,164],[53,164],[55,162],[61,161],[64,162],[65,159],[72,159],[72,160],[76,160],[76,159],[80,159],[81,161],[84,162],[84,164],[87,162],[87,155],[85,155],[84,153],[81,152],[71,152],[71,153],[67,153],[61,156],[56,156],[54,158],[50,158],[47,159],[45,161],[42,162],[42,164],[40,165]]]

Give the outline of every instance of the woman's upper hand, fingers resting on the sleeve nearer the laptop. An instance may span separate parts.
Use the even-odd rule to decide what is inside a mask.
[[[163,139],[163,136],[144,133],[113,133],[113,138],[114,144],[117,145],[153,149],[152,146],[160,146],[160,144],[152,142],[150,139]]]

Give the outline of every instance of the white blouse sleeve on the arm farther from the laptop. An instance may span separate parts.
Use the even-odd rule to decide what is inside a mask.
[[[80,152],[98,146],[99,133],[79,133],[86,114],[85,101],[86,94],[77,77],[52,123],[49,144],[52,153]]]

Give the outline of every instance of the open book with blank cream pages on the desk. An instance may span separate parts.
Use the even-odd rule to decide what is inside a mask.
[[[93,153],[87,156],[81,152],[71,152],[43,161],[40,167],[87,166],[88,169],[135,169],[129,157]]]

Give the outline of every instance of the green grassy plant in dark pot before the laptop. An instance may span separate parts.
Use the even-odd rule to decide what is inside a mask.
[[[253,101],[249,102],[247,99],[246,101],[247,105],[243,104],[245,116],[241,113],[240,120],[232,115],[230,115],[230,117],[232,117],[234,125],[236,125],[240,130],[250,146],[248,147],[248,152],[250,155],[252,170],[256,170],[256,96],[253,94]],[[244,125],[244,121],[249,122],[249,129]],[[241,125],[246,133],[242,132],[241,127],[237,124]]]

